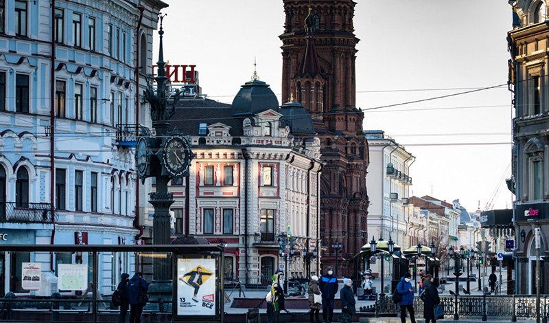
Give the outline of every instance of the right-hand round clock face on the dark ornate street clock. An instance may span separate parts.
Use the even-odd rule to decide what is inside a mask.
[[[189,169],[190,149],[184,137],[175,135],[164,144],[163,159],[167,172],[172,176],[181,176]]]

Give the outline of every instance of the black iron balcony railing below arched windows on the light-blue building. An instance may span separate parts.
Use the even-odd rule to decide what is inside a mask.
[[[57,219],[54,212],[54,221]],[[0,202],[0,223],[51,223],[51,204]]]

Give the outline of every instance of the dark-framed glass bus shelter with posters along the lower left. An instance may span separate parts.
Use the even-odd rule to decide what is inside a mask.
[[[7,257],[15,261],[6,264],[2,322],[118,322],[111,298],[121,274],[140,271],[153,287],[159,259],[170,264],[172,289],[149,289],[143,322],[223,322],[223,245],[0,245],[0,253],[18,255]]]

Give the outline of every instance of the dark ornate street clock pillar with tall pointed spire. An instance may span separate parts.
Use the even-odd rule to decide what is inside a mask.
[[[143,99],[150,104],[150,115],[152,126],[156,135],[146,127],[141,127],[139,135],[138,149],[135,154],[137,174],[144,181],[145,178],[154,177],[156,179],[156,192],[150,193],[149,202],[154,207],[153,225],[152,225],[152,244],[169,245],[170,244],[170,206],[174,203],[173,194],[167,191],[167,184],[172,178],[188,176],[188,167],[193,157],[188,141],[179,134],[171,134],[168,131],[170,118],[175,113],[175,104],[179,100],[181,91],[176,91],[170,98],[172,109],[168,111],[166,85],[168,78],[163,57],[162,20],[165,15],[159,14],[160,18],[160,48],[158,76],[156,80],[157,88],[153,89],[149,82],[147,89],[143,93]],[[170,153],[167,155],[166,143],[170,142],[169,137],[178,137],[180,142],[172,144]],[[173,139],[172,139],[173,140]],[[185,150],[183,148],[185,148]],[[172,267],[170,256],[156,254],[152,257],[152,276],[153,280],[149,286],[148,293],[152,300],[163,298],[171,299],[172,296]],[[165,309],[166,309],[166,305]],[[167,306],[167,311],[171,311]]]

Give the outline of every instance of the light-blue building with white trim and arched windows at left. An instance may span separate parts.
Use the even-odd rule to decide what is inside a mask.
[[[136,186],[127,125],[137,121],[137,34],[151,35],[156,13],[166,6],[161,1],[1,2],[5,243],[133,243]],[[2,254],[1,294],[49,296],[42,286],[22,287],[21,264],[28,262],[41,263],[46,278],[56,276],[60,264],[91,264],[88,256],[71,253]],[[112,268],[100,277],[100,292],[108,293],[135,260],[105,255],[101,263]]]

